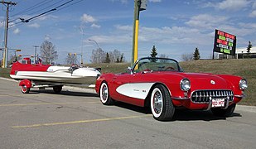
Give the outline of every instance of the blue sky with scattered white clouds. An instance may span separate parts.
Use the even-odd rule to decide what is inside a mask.
[[[10,7],[7,46],[19,55],[34,55],[43,41],[56,46],[56,63],[65,64],[68,53],[83,55],[89,63],[92,50],[119,50],[131,61],[133,46],[133,0],[13,0]],[[61,4],[69,2],[63,7]],[[6,7],[0,10],[0,40],[4,41]],[[56,11],[36,17],[58,7]],[[36,17],[30,22],[21,22]],[[138,58],[158,55],[182,60],[196,47],[202,59],[212,55],[215,29],[237,36],[237,48],[256,44],[254,0],[148,0],[140,12]],[[98,45],[97,45],[98,44]],[[40,49],[37,48],[37,51]],[[14,50],[9,51],[14,55]],[[2,52],[0,54],[2,58]]]

